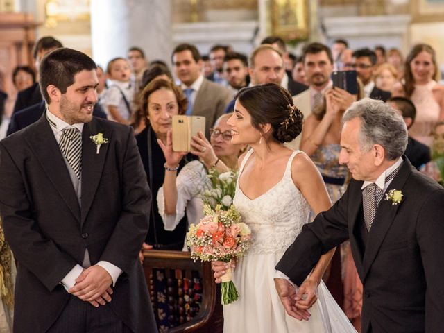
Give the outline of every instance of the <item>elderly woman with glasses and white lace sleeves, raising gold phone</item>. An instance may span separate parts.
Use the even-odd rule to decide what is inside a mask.
[[[215,167],[219,172],[237,169],[237,159],[244,151],[244,146],[232,144],[231,128],[227,121],[231,114],[223,114],[210,129],[210,142],[203,133],[193,137],[191,153],[199,160],[191,161],[178,173],[177,167],[185,153],[173,151],[171,131],[167,144],[160,142],[164,152],[164,184],[157,192],[157,206],[164,221],[165,230],[174,230],[187,214],[188,223],[198,223],[203,217],[203,201],[200,194],[210,188],[208,170]],[[184,246],[186,250],[186,246]]]

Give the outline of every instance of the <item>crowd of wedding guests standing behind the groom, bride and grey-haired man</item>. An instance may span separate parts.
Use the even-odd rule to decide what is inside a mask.
[[[46,105],[37,82],[39,63],[60,47],[55,38],[42,37],[33,53],[37,71],[28,66],[14,69],[12,82],[18,93],[0,92],[2,137],[42,117]],[[349,178],[347,168],[338,162],[341,117],[364,97],[382,99],[400,112],[409,128],[405,154],[413,166],[443,184],[444,86],[438,83],[436,53],[427,44],[413,46],[404,58],[399,49],[350,49],[345,40],[334,41],[330,48],[314,42],[296,56],[287,52],[282,39],[270,36],[249,55],[219,44],[201,55],[196,46],[185,43],[169,56],[171,64],[149,61],[142,49],[131,47],[126,57],[97,69],[94,114],[133,126],[157,198],[152,202],[146,249],[186,250],[189,223],[203,214],[200,192],[209,186],[207,170],[236,169],[237,157],[246,148],[231,144],[226,114],[233,112],[239,89],[249,85],[275,83],[289,90],[305,123],[300,137],[288,146],[311,157],[333,202],[344,193]],[[333,86],[332,73],[348,70],[357,72],[357,94]],[[194,138],[187,155],[175,155],[168,148],[175,114],[206,118],[205,133]],[[359,330],[362,286],[349,244],[336,253],[325,280]]]

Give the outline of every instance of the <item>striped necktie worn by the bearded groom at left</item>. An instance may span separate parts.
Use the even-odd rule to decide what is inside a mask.
[[[82,135],[80,130],[75,127],[63,129],[58,146],[72,171],[76,173],[80,180],[80,173],[82,172]]]

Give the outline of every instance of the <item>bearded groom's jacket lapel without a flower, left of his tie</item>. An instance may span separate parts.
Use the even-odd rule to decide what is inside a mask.
[[[28,145],[42,166],[46,176],[65,201],[74,217],[80,221],[80,207],[74,187],[69,176],[65,159],[57,144],[56,137],[46,120],[45,112],[35,123],[35,130],[26,137]]]

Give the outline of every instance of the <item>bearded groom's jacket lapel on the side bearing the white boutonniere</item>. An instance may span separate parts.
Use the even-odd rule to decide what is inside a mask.
[[[99,154],[97,146],[92,142],[91,136],[103,133],[103,137],[108,139],[107,144],[102,144]],[[81,224],[85,222],[89,208],[96,196],[96,190],[99,186],[103,166],[105,165],[105,157],[108,152],[108,146],[112,139],[112,132],[105,130],[100,126],[99,121],[93,118],[90,123],[85,123],[82,133],[82,209]]]

